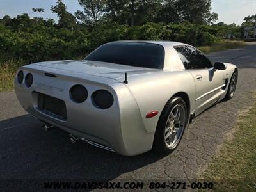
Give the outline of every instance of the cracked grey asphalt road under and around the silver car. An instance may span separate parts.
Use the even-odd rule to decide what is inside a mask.
[[[237,114],[252,103],[256,91],[255,52],[256,45],[248,45],[210,55],[212,60],[239,66],[236,95],[198,116],[169,156],[147,152],[124,157],[83,142],[72,145],[68,134],[60,129],[45,132],[21,108],[14,92],[0,93],[0,184],[6,179],[197,178],[232,130]]]

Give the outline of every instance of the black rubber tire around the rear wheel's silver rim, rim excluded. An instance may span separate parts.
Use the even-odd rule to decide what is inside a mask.
[[[165,128],[166,128],[166,122],[168,120],[168,117],[173,109],[173,107],[177,106],[177,104],[181,104],[182,106],[184,106],[185,109],[185,113],[186,113],[186,122],[184,125],[184,128],[182,129],[182,132],[180,132],[181,137],[180,140],[182,139],[182,136],[184,134],[184,130],[186,129],[186,126],[188,125],[188,111],[187,111],[187,106],[186,106],[186,102],[184,101],[184,99],[182,99],[181,97],[173,97],[172,99],[170,99],[166,106],[164,106],[164,109],[159,117],[158,123],[157,123],[157,128],[156,128],[156,132],[155,132],[155,136],[154,136],[154,143],[153,143],[153,151],[156,152],[157,154],[170,154],[171,152],[173,152],[173,150],[175,150],[175,148],[178,147],[180,140],[177,141],[177,145],[175,145],[175,147],[173,148],[168,148],[166,146],[166,141],[165,141]]]

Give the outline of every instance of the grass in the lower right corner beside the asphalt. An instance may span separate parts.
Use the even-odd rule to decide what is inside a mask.
[[[232,139],[201,178],[214,180],[216,191],[256,191],[256,104],[239,116]]]

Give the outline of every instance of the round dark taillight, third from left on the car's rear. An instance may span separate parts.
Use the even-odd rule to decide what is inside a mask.
[[[81,103],[87,99],[88,92],[83,85],[77,84],[70,89],[70,95],[74,102]]]

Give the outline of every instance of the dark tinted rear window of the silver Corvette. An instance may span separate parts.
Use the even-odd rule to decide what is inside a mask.
[[[164,48],[143,42],[111,42],[100,46],[85,60],[163,69]]]

